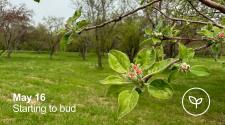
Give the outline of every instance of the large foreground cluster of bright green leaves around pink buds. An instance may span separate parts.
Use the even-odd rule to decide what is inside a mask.
[[[119,91],[118,119],[124,117],[135,108],[138,104],[139,96],[145,90],[154,98],[170,99],[173,96],[173,88],[168,83],[171,82],[174,76],[183,73],[191,73],[196,76],[209,75],[205,67],[200,65],[190,66],[188,64],[194,57],[194,54],[195,52],[192,48],[179,44],[177,58],[159,59],[157,55],[160,54],[156,48],[145,48],[139,51],[134,59],[134,63],[131,63],[125,53],[111,50],[108,54],[109,66],[118,74],[106,77],[101,83],[113,86],[113,91],[116,91],[116,89]],[[163,55],[162,51],[162,57]],[[168,75],[168,81],[161,77],[157,78],[157,74],[165,70],[171,70]],[[152,77],[155,78],[151,79]]]

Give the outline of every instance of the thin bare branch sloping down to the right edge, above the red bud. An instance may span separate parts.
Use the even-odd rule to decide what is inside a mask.
[[[195,20],[187,20],[187,19],[181,19],[181,18],[174,18],[174,17],[170,17],[168,15],[166,15],[165,13],[163,13],[161,10],[159,10],[158,8],[154,7],[155,10],[157,10],[158,12],[160,12],[164,17],[172,20],[172,21],[182,21],[182,22],[190,22],[190,23],[197,23],[197,24],[201,24],[201,25],[208,25],[211,24],[210,22],[203,22],[203,21],[195,21]],[[216,24],[216,23],[212,23],[214,26],[218,26],[220,28],[225,28],[225,26]]]

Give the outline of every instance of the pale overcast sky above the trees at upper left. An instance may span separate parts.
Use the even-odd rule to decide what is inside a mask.
[[[72,8],[70,0],[42,0],[39,4],[33,0],[9,0],[12,4],[26,4],[26,7],[33,10],[33,20],[37,24],[41,22],[44,17],[56,16],[70,17],[74,9]]]

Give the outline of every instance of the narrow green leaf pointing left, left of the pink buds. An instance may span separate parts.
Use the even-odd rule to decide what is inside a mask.
[[[108,84],[108,85],[121,85],[121,84],[129,84],[132,83],[130,81],[125,80],[124,78],[120,76],[108,76],[104,80],[100,81],[102,84]]]

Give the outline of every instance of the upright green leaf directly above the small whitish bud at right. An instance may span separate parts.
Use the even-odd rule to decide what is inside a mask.
[[[195,51],[192,48],[187,48],[183,44],[179,43],[179,54],[178,57],[185,62],[190,61],[195,55]]]

